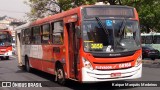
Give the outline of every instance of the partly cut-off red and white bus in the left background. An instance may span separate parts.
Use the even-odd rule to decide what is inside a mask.
[[[0,30],[0,57],[9,59],[12,56],[12,34],[10,30]]]

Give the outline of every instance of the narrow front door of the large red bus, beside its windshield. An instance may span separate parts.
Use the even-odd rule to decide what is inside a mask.
[[[69,72],[71,78],[77,78],[78,38],[75,33],[75,23],[67,23]]]

